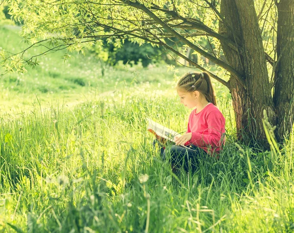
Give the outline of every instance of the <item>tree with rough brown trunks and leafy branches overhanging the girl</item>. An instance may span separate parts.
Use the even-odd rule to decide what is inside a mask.
[[[48,51],[81,49],[107,39],[120,46],[127,38],[150,43],[208,72],[232,94],[239,139],[264,143],[263,112],[283,141],[294,116],[293,0],[6,0],[23,36],[33,45],[50,42]],[[205,39],[210,49],[200,43]],[[38,41],[40,40],[40,41]],[[178,49],[178,43],[184,50]],[[206,44],[207,44],[206,43]],[[186,56],[191,49],[229,75],[225,81]],[[181,52],[179,52],[181,51]],[[223,59],[221,54],[225,55]],[[18,61],[2,52],[9,69]],[[39,54],[37,54],[39,55]],[[36,55],[36,56],[37,56]]]

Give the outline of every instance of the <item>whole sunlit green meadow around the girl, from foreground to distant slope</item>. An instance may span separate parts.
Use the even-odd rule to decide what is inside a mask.
[[[7,51],[26,46],[15,27],[0,35]],[[213,80],[224,149],[174,174],[146,118],[186,131],[174,86],[190,69],[63,55],[0,79],[0,232],[294,231],[293,136],[278,146],[269,131],[270,151],[238,143],[230,94]]]

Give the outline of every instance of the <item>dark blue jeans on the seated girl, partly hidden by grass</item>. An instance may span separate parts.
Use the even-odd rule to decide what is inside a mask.
[[[154,148],[158,146],[163,160],[170,158],[173,170],[176,168],[179,169],[183,166],[185,171],[188,171],[189,167],[192,169],[192,171],[195,171],[199,157],[202,155],[207,155],[203,149],[193,144],[189,147],[191,149],[176,145],[172,145],[170,148],[164,149],[159,141],[155,139],[153,141],[153,146]]]

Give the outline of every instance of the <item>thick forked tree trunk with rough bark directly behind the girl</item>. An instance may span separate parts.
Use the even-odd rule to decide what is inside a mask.
[[[221,0],[221,14],[225,22],[220,23],[219,32],[239,46],[239,52],[235,52],[222,44],[223,52],[229,64],[242,74],[246,85],[243,87],[231,75],[229,89],[238,139],[267,145],[262,123],[263,110],[266,109],[272,125],[276,116],[253,0]]]

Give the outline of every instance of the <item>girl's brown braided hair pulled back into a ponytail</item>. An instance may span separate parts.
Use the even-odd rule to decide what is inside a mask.
[[[217,105],[210,76],[205,72],[189,72],[178,81],[176,86],[186,92],[199,91],[208,102]]]

